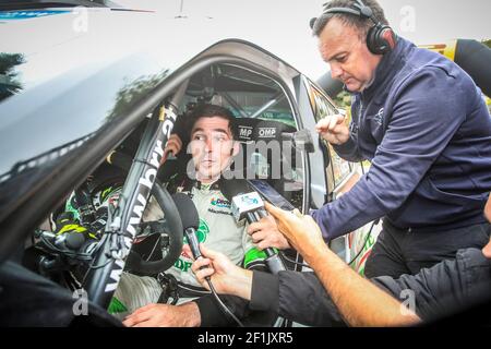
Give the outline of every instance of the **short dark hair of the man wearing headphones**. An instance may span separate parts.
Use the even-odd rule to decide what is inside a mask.
[[[376,0],[361,0],[364,5],[369,7],[373,12],[373,17],[381,24],[388,25],[388,21],[385,17],[384,10],[381,8]],[[370,19],[362,19],[355,14],[348,13],[325,13],[332,8],[354,8],[357,3],[356,0],[332,0],[324,3],[323,13],[315,20],[312,25],[312,34],[320,36],[324,27],[332,19],[339,19],[343,24],[357,28],[360,33],[360,38],[364,40],[367,38],[368,31],[373,26],[373,22]],[[313,19],[312,19],[313,20]]]

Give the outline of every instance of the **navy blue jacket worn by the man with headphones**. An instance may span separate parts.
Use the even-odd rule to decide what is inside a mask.
[[[491,190],[491,118],[470,76],[443,56],[399,38],[373,83],[354,94],[350,140],[335,146],[370,170],[312,212],[331,240],[385,216],[439,231],[484,222]]]

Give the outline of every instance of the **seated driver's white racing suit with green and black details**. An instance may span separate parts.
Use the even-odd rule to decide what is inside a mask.
[[[224,253],[233,263],[246,268],[265,269],[264,252],[260,252],[253,246],[252,240],[247,233],[247,227],[238,225],[233,219],[230,203],[219,190],[220,181],[212,185],[193,182],[184,189],[196,206],[200,216],[200,227],[196,231],[199,241]],[[178,190],[182,190],[182,188]],[[145,212],[144,219],[155,220],[158,218],[161,218],[158,205],[151,204]],[[213,296],[195,279],[191,264],[192,260],[181,254],[175,265],[165,270],[167,275],[173,276],[178,281],[179,299],[177,304],[194,300],[200,309],[202,326],[230,325],[230,320],[217,308]],[[109,312],[122,318],[143,305],[157,303],[161,292],[163,287],[156,278],[123,273],[109,305]],[[233,296],[220,296],[220,299],[239,318],[248,314],[247,301]]]

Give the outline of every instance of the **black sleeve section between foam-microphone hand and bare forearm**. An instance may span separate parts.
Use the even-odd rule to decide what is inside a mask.
[[[314,273],[254,272],[252,310],[273,311],[279,316],[308,326],[336,326],[343,320]]]

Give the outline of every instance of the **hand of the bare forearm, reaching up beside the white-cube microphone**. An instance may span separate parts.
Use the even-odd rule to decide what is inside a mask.
[[[275,217],[279,231],[308,262],[309,256],[318,250],[325,249],[326,244],[322,238],[321,228],[311,216],[303,216],[298,209],[294,212],[283,210],[265,203],[267,212]]]

